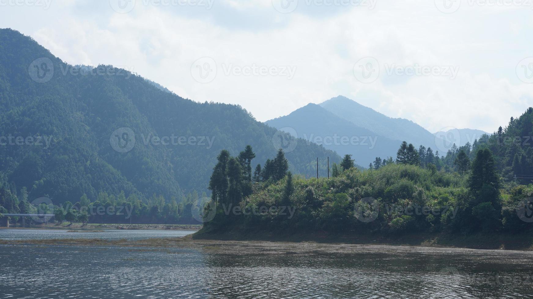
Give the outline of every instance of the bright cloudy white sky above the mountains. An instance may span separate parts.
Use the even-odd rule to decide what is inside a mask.
[[[529,0],[0,0],[0,28],[266,121],[344,95],[435,132],[533,106]]]

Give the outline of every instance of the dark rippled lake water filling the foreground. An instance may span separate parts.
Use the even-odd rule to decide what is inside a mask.
[[[27,231],[10,234],[26,238]],[[533,298],[530,252],[224,242],[191,248],[17,244],[0,245],[0,267],[0,298]]]

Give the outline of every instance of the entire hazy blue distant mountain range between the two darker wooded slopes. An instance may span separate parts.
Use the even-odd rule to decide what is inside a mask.
[[[451,128],[447,132],[432,134],[413,121],[387,117],[344,96],[331,98],[319,105],[306,105],[266,123],[277,129],[285,128],[295,137],[324,145],[341,155],[352,154],[359,164],[365,166],[375,157],[395,157],[402,141],[413,143],[416,147],[431,147],[445,155],[449,149],[447,141],[456,141],[457,146],[462,146],[472,137],[477,139],[485,134],[480,130]]]

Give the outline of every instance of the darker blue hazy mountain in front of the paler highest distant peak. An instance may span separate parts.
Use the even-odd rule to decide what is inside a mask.
[[[395,156],[401,144],[400,140],[356,126],[316,104],[308,104],[266,123],[278,129],[293,128],[297,137],[322,144],[341,155],[351,154],[356,163],[365,167],[376,157]]]

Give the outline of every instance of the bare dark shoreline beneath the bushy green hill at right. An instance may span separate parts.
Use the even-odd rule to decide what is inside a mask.
[[[399,236],[377,235],[343,235],[314,232],[304,234],[273,234],[266,231],[244,233],[239,230],[204,231],[187,236],[194,240],[220,240],[239,242],[289,242],[289,243],[319,243],[319,244],[351,244],[351,245],[391,245],[391,246],[421,246],[435,248],[469,248],[478,250],[518,250],[533,251],[533,234],[403,234]]]

